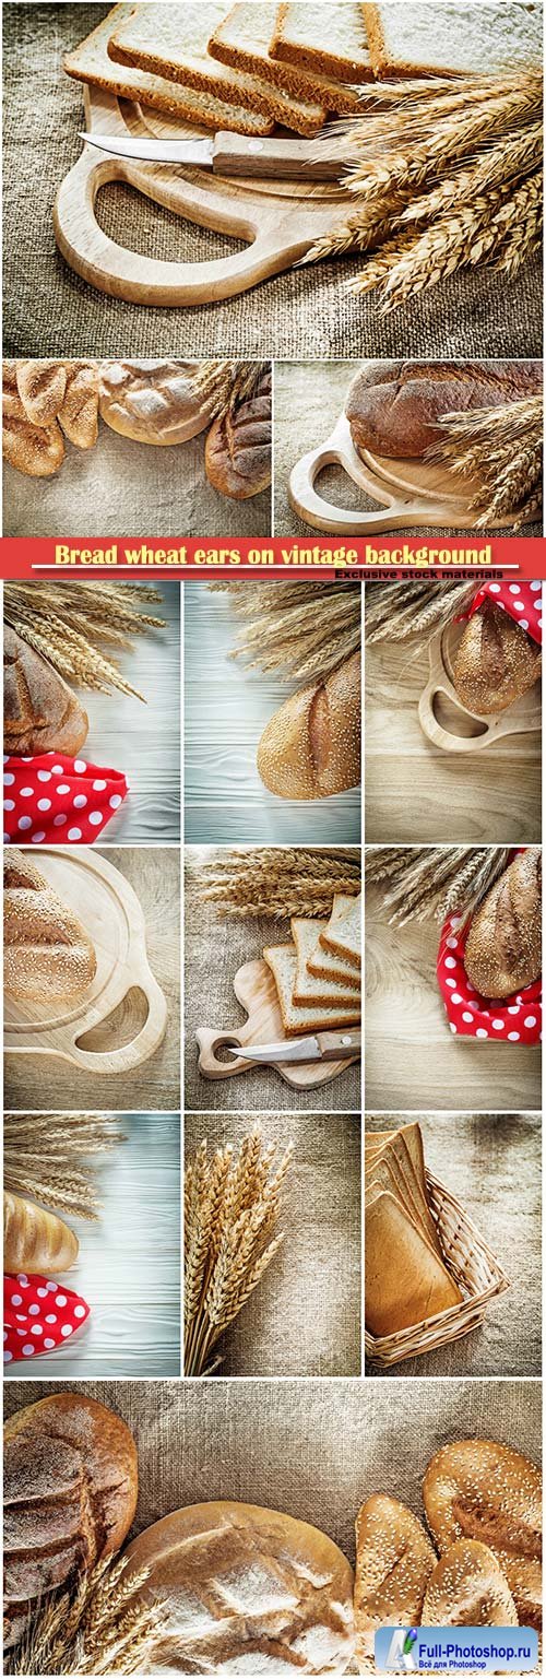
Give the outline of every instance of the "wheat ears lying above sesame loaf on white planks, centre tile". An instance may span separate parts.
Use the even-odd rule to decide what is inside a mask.
[[[341,583],[223,583],[237,618],[245,621],[232,658],[250,670],[311,682],[326,680],[360,648],[360,584]]]

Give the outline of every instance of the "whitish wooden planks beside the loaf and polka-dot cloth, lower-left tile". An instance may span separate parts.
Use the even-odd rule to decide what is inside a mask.
[[[32,1360],[40,1377],[180,1375],[180,1115],[119,1117],[126,1142],[104,1155],[97,1224],[67,1219],[79,1239],[59,1278],[91,1306],[74,1340]],[[7,1380],[29,1377],[29,1358]]]

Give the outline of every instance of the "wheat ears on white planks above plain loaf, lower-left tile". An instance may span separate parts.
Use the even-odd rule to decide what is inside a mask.
[[[55,1212],[97,1219],[101,1200],[91,1160],[123,1142],[124,1133],[102,1113],[7,1113],[3,1187]]]

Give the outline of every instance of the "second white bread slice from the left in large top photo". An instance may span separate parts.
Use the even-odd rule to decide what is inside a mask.
[[[197,87],[215,99],[240,102],[250,111],[260,111],[270,121],[292,124],[301,118],[299,101],[287,91],[279,92],[228,64],[218,64],[208,54],[208,40],[225,18],[225,5],[197,0],[193,5],[146,5],[133,8],[109,40],[109,57],[118,64],[136,65],[158,76],[166,76],[185,87]],[[314,104],[304,111],[304,133],[316,133],[324,119],[324,106]]]

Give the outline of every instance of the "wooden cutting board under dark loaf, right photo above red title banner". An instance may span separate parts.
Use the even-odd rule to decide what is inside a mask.
[[[354,507],[334,507],[333,502],[326,502],[314,489],[324,467],[343,467],[353,484],[380,502],[380,507],[356,512]],[[442,465],[423,460],[390,460],[386,455],[373,455],[371,450],[363,450],[358,455],[349,421],[346,415],[339,415],[326,443],[311,448],[292,468],[289,502],[299,519],[304,519],[314,531],[333,536],[380,534],[403,531],[410,526],[475,531],[475,515],[469,512],[474,490],[472,480],[465,482],[465,494],[454,489],[454,475]],[[501,520],[491,529],[497,529],[499,524]],[[486,541],[482,532],[475,532],[475,541]]]

